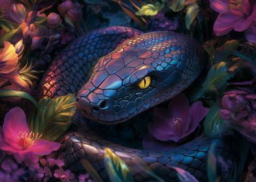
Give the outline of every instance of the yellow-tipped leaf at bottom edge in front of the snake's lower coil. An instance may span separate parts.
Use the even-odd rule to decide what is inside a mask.
[[[108,177],[112,182],[129,182],[133,177],[125,162],[115,155],[109,148],[105,149],[104,165]]]

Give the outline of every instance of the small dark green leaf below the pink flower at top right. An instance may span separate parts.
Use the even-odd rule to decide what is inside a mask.
[[[238,40],[229,40],[216,49],[214,62],[225,62],[232,55],[232,51],[240,45]]]

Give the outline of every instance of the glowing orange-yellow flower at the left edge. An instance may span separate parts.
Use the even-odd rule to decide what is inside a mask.
[[[14,45],[4,42],[4,47],[0,49],[0,77],[8,79],[10,83],[28,87],[28,83],[20,77],[18,54]]]

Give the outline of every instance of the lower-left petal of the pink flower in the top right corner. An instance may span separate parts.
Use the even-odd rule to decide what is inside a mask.
[[[214,33],[217,36],[229,33],[241,18],[241,16],[237,16],[231,13],[219,14],[214,23]]]

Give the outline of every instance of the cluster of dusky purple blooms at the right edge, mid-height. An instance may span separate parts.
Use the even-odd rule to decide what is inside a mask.
[[[249,141],[256,143],[256,93],[254,81],[235,83],[238,89],[222,98],[221,118]]]

